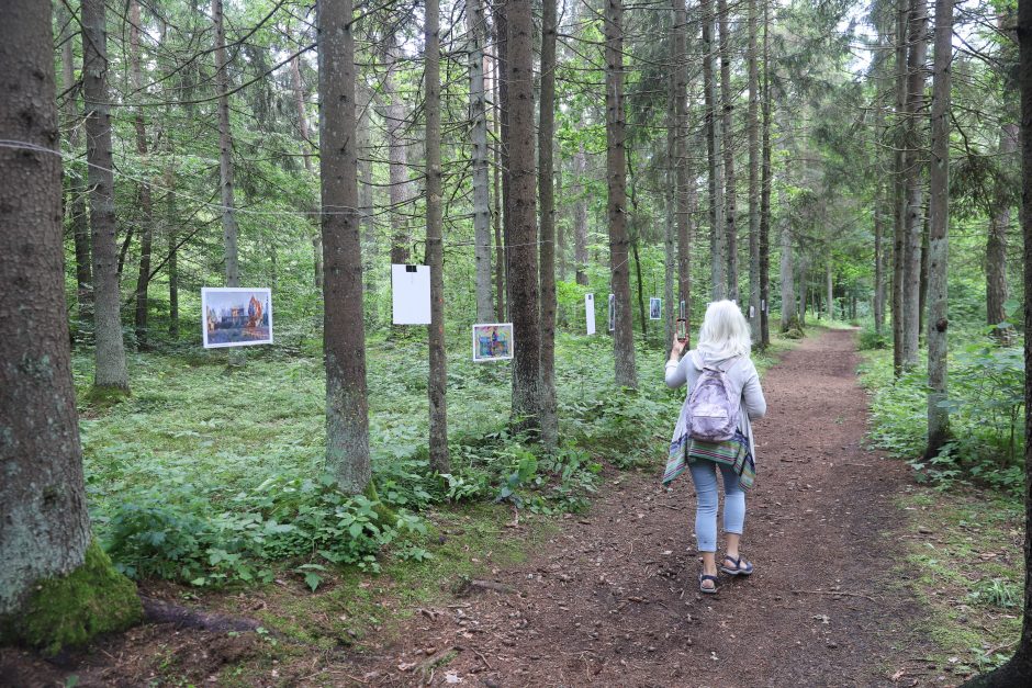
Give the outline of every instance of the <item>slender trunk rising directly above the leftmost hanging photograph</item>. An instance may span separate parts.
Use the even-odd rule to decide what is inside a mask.
[[[215,90],[218,93],[218,185],[222,190],[222,238],[225,247],[226,286],[240,285],[237,258],[236,200],[234,199],[233,134],[229,131],[229,75],[226,70],[226,33],[222,0],[212,0],[215,23]]]

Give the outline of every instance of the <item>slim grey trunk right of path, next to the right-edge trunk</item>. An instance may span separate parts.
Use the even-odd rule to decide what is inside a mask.
[[[929,166],[928,237],[928,450],[935,456],[950,435],[946,398],[946,267],[950,257],[950,81],[953,63],[953,0],[935,0],[932,68],[932,139]]]

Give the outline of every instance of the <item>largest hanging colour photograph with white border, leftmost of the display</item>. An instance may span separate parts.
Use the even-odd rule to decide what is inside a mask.
[[[272,290],[201,289],[201,331],[205,349],[272,343]]]

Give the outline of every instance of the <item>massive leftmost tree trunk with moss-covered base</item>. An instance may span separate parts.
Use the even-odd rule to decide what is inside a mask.
[[[94,41],[86,63],[96,70],[87,81],[90,105],[105,100],[98,98],[106,70],[102,2],[83,1],[83,44]],[[54,654],[69,638],[81,643],[125,628],[141,607],[133,585],[91,544],[65,305],[51,31],[49,3],[4,4],[0,138],[34,148],[0,148],[0,638]],[[96,148],[100,115],[89,116]],[[76,606],[55,608],[55,586],[75,586]]]

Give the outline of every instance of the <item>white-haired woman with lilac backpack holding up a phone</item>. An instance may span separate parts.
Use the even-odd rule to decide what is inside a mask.
[[[741,555],[741,538],[745,523],[745,493],[752,485],[755,443],[750,420],[762,418],[766,413],[766,401],[760,387],[760,375],[749,358],[751,348],[749,323],[738,306],[730,301],[709,304],[699,330],[698,346],[683,358],[684,342],[674,338],[666,362],[666,385],[676,388],[687,385],[688,391],[681,416],[671,441],[671,456],[663,476],[668,484],[685,467],[692,473],[698,506],[695,512],[695,538],[703,555],[699,573],[699,591],[717,591],[717,473],[723,477],[723,532],[725,556],[720,571],[732,576],[748,576],[753,565]],[[699,394],[693,395],[699,387]],[[709,395],[700,399],[704,388]],[[723,397],[722,390],[727,391]],[[694,398],[693,398],[694,397]],[[728,435],[730,439],[714,441],[703,437],[711,416],[704,409],[721,404],[713,399],[727,401]],[[693,405],[694,416],[693,417]],[[717,408],[720,416],[723,411]],[[738,417],[734,418],[734,415]],[[692,429],[696,428],[693,433]],[[719,430],[717,431],[720,432]],[[695,437],[693,437],[693,435]]]

